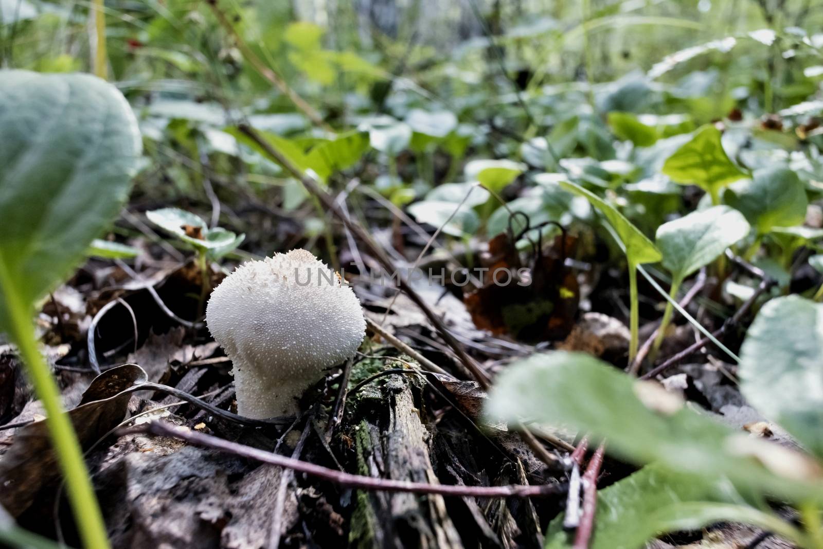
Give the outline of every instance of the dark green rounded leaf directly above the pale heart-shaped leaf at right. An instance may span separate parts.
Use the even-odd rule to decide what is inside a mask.
[[[780,166],[756,170],[753,179],[733,185],[724,198],[760,235],[774,227],[802,224],[809,203],[797,174]]]

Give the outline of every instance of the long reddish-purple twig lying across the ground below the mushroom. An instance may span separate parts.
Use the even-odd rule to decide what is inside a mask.
[[[519,484],[508,486],[454,486],[352,475],[351,473],[325,468],[300,459],[287,458],[286,456],[272,454],[271,452],[245,446],[244,444],[218,439],[216,436],[204,435],[203,433],[198,433],[186,427],[171,426],[169,423],[163,421],[152,421],[151,423],[141,426],[119,430],[117,435],[123,436],[136,433],[173,437],[196,446],[220,450],[227,454],[289,468],[297,472],[305,472],[308,475],[320,477],[329,482],[335,482],[340,486],[360,488],[361,490],[399,491],[413,494],[439,494],[468,497],[545,497],[546,495],[561,494],[565,491],[565,486],[559,484],[544,484],[540,486],[523,486]]]

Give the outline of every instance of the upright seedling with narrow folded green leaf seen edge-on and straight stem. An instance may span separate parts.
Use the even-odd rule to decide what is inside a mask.
[[[663,256],[660,251],[655,248],[652,241],[649,240],[640,230],[631,224],[631,221],[625,218],[621,212],[618,212],[615,207],[608,202],[598,197],[588,189],[580,187],[574,183],[565,181],[560,182],[560,186],[566,190],[578,194],[591,202],[603,216],[611,224],[611,227],[616,231],[617,236],[620,237],[621,244],[625,251],[625,258],[629,263],[629,299],[630,299],[630,314],[629,314],[629,363],[635,360],[638,347],[638,332],[639,332],[639,311],[638,311],[638,297],[637,297],[637,266],[644,263],[657,263]]]

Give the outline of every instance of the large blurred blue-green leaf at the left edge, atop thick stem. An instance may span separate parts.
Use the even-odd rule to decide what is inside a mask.
[[[128,196],[141,152],[132,109],[81,74],[0,71],[0,263],[32,303],[66,277]]]

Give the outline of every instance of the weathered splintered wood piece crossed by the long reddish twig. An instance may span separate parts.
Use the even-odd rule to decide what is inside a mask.
[[[349,436],[358,473],[371,477],[437,483],[429,453],[429,431],[416,404],[419,387],[408,376],[391,376],[381,388],[356,398]],[[463,547],[441,495],[356,491],[350,547]]]

